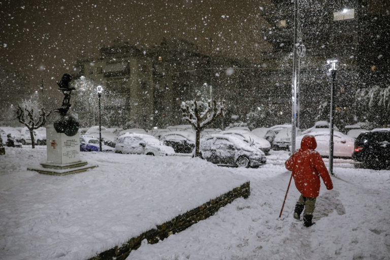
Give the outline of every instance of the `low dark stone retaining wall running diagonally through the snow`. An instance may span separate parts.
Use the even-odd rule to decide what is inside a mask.
[[[250,193],[249,182],[242,184],[240,187],[222,194],[221,196],[206,202],[205,204],[194,208],[184,214],[181,214],[164,224],[157,225],[155,229],[146,231],[141,235],[128,240],[126,243],[115,246],[107,251],[100,253],[88,260],[122,260],[125,259],[132,250],[141,246],[141,241],[147,239],[149,244],[157,243],[159,240],[167,238],[169,235],[185,230],[190,225],[204,220],[214,215],[217,210],[237,198],[248,198]]]

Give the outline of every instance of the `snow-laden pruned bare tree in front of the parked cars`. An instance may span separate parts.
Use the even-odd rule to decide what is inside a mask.
[[[213,106],[212,106],[213,104]],[[186,101],[181,103],[181,111],[183,119],[188,121],[196,131],[195,141],[195,157],[199,157],[199,146],[201,140],[201,132],[206,125],[212,123],[219,116],[223,117],[225,110],[225,101],[216,102],[215,100],[205,102]]]

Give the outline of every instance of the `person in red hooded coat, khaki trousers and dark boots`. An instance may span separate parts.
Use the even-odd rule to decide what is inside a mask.
[[[314,136],[306,135],[302,139],[301,149],[296,150],[285,162],[286,169],[293,172],[295,186],[301,192],[295,205],[294,218],[300,219],[300,215],[305,209],[303,213],[305,226],[314,224],[312,219],[315,200],[319,194],[319,177],[321,176],[327,189],[333,188],[328,170],[319,153],[314,150],[316,147],[317,142]]]

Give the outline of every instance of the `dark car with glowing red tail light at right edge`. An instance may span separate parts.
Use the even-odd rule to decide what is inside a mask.
[[[352,159],[356,168],[390,169],[390,128],[361,133],[354,142]]]

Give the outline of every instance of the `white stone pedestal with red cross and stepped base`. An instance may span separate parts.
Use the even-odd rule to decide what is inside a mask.
[[[47,161],[41,163],[42,167],[27,168],[27,170],[50,175],[67,175],[97,167],[97,165],[88,165],[87,161],[80,160],[79,133],[67,136],[57,133],[52,125],[47,126],[46,150]]]

